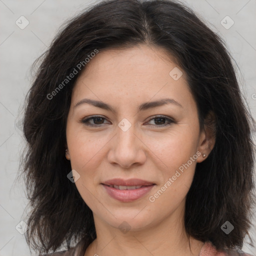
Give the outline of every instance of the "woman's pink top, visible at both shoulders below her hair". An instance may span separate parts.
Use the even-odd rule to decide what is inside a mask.
[[[81,251],[82,242],[77,243],[77,245],[70,250],[62,250],[59,252],[43,254],[39,256],[83,256],[84,252]],[[199,256],[253,256],[252,254],[245,253],[241,250],[216,250],[215,246],[207,241],[203,244]],[[255,255],[254,255],[255,256]]]

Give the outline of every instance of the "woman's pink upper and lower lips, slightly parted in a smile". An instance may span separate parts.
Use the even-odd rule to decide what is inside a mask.
[[[108,195],[110,195],[112,198],[117,199],[121,202],[131,202],[131,201],[137,200],[138,198],[141,198],[142,196],[147,194],[155,185],[150,181],[137,179],[137,178],[131,178],[126,180],[120,179],[120,178],[113,178],[113,179],[104,181],[104,183],[101,183],[101,184],[105,188]],[[135,189],[120,190],[120,189],[111,187],[110,185],[122,185],[122,186],[142,185],[142,187],[135,188]]]

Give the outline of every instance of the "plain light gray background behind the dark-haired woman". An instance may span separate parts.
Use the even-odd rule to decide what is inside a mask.
[[[29,68],[35,58],[46,50],[58,27],[94,2],[97,1],[0,0],[0,256],[30,254],[24,235],[15,229],[27,211],[24,184],[14,182],[24,145],[19,120],[22,118],[24,96],[31,84]],[[239,67],[238,79],[244,97],[256,118],[256,0],[185,2],[226,42]],[[29,21],[24,29],[15,23],[21,15]],[[234,21],[229,29],[221,24],[227,15]],[[229,26],[232,21],[225,18],[222,22]],[[255,223],[254,220],[251,230],[254,239]],[[243,250],[256,255],[256,249],[246,243]]]

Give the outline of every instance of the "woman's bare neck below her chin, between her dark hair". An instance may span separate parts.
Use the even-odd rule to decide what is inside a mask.
[[[164,220],[143,228],[123,232],[94,216],[97,238],[89,245],[84,256],[198,256],[203,242],[188,237],[181,221],[181,212],[173,212]],[[190,244],[190,247],[189,247]]]

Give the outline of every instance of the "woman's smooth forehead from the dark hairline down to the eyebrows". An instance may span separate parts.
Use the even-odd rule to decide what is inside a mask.
[[[147,45],[106,49],[92,57],[75,83],[72,101],[88,96],[116,102],[119,98],[119,103],[170,96],[194,103],[185,75],[170,54]]]

